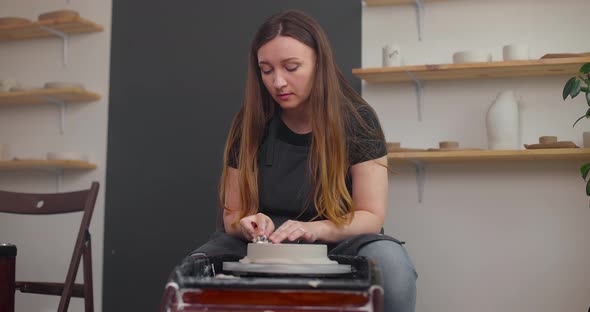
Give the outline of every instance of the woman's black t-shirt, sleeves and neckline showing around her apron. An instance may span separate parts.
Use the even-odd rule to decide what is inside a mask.
[[[387,155],[385,139],[380,136],[380,133],[383,133],[381,124],[375,111],[370,106],[363,105],[357,108],[357,112],[366,127],[363,127],[354,117],[349,116],[350,127],[347,127],[346,131],[346,143],[350,166]],[[311,133],[295,133],[282,120],[279,123],[277,137],[291,145],[311,145]],[[238,152],[239,142],[230,148],[228,166],[237,168]]]

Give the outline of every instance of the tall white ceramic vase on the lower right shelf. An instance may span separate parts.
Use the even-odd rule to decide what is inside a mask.
[[[491,150],[520,149],[518,101],[514,92],[498,93],[486,114],[488,148]]]

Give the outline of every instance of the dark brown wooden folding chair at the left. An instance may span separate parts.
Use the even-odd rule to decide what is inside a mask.
[[[14,288],[23,293],[60,296],[58,312],[68,310],[71,297],[84,298],[84,310],[86,312],[93,311],[92,255],[88,227],[92,219],[98,188],[98,182],[92,182],[87,190],[69,193],[32,194],[0,191],[0,212],[30,215],[83,212],[65,281],[63,283],[12,281]],[[82,258],[84,259],[84,283],[75,284]],[[4,296],[10,299],[12,296],[12,302],[14,302],[14,288],[12,291],[4,291],[4,287],[0,287],[4,292],[12,292],[0,294],[0,297]],[[5,311],[3,309],[0,307],[0,311]]]

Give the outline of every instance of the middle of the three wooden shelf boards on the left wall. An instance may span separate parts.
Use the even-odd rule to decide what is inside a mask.
[[[100,95],[84,89],[38,89],[33,91],[2,92],[0,93],[0,105],[8,104],[49,104],[52,100],[64,103],[83,103],[100,99]]]

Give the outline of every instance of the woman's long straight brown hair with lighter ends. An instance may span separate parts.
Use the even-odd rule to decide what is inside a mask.
[[[383,138],[380,127],[370,127],[360,116],[370,106],[348,84],[338,69],[324,31],[311,17],[289,10],[271,16],[258,29],[248,58],[248,77],[242,108],[234,117],[224,152],[219,200],[225,207],[227,164],[232,149],[237,150],[237,168],[241,211],[237,221],[258,211],[257,152],[265,126],[277,105],[262,83],[258,68],[258,49],[277,36],[289,36],[311,47],[316,54],[315,81],[309,96],[312,118],[312,139],[308,175],[317,217],[341,226],[349,223],[354,211],[352,196],[346,187],[349,169],[347,133],[351,127],[363,127]]]

